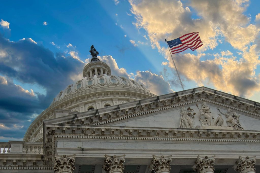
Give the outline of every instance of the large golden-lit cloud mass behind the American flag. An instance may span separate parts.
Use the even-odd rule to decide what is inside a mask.
[[[183,7],[181,1],[130,0],[130,4],[136,19],[133,24],[146,30],[152,48],[157,48],[168,60],[162,65],[168,64],[174,69],[168,49],[162,47],[160,41],[199,32],[204,45],[197,49],[197,55],[185,52],[174,55],[181,76],[198,86],[213,85],[216,89],[244,97],[260,89],[255,74],[259,65],[259,46],[254,43],[260,29],[250,24],[250,18],[244,15],[248,1],[189,1],[188,5],[199,16],[195,19],[190,8]],[[241,57],[235,57],[229,50],[215,55],[202,53],[215,49],[224,39],[240,52]],[[201,57],[207,60],[202,61]]]

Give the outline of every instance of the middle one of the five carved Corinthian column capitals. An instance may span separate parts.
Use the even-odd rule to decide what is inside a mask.
[[[172,155],[164,157],[164,156],[155,156],[153,155],[152,160],[152,173],[170,173],[171,170],[171,159]]]

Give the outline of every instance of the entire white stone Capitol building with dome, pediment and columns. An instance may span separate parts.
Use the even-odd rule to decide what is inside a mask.
[[[206,87],[156,96],[91,47],[83,79],[1,142],[0,172],[257,173],[260,103]]]

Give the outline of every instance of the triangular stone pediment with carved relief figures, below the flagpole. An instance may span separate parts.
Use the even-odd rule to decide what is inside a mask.
[[[44,123],[260,131],[259,105],[200,87],[87,112],[73,112]]]

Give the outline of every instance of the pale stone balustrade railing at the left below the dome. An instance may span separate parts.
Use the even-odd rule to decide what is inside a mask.
[[[0,142],[0,155],[2,154],[43,154],[43,143]]]

